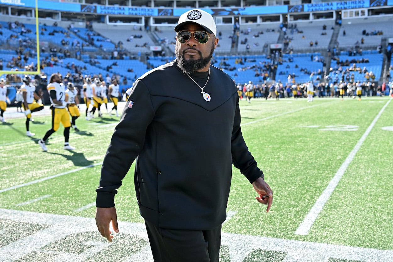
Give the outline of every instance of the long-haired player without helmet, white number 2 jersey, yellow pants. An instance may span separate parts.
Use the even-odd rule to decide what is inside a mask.
[[[52,74],[49,80],[49,85],[47,87],[49,92],[49,99],[51,101],[51,110],[52,110],[52,127],[48,131],[43,138],[38,141],[38,144],[41,146],[42,150],[47,151],[45,141],[56,132],[60,127],[60,122],[64,126],[64,149],[65,150],[73,150],[75,149],[68,143],[68,139],[70,138],[70,116],[67,113],[67,100],[68,95],[66,94],[65,87],[61,82],[61,77],[59,74]]]

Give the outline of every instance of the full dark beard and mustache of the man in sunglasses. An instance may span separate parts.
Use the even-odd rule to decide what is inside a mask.
[[[211,50],[210,50],[210,54],[207,57],[202,57],[202,53],[198,50],[196,50],[193,47],[189,47],[185,50],[196,50],[199,54],[199,59],[188,59],[185,60],[184,58],[184,54],[185,54],[185,50],[183,50],[182,54],[180,54],[180,50],[179,50],[179,46],[178,44],[176,44],[175,48],[174,48],[174,53],[176,54],[176,59],[178,61],[178,66],[179,68],[185,73],[185,74],[192,74],[193,72],[196,72],[202,68],[204,68],[205,66],[207,66],[211,60],[211,58],[213,57],[213,53],[214,53],[214,43],[211,45]]]

